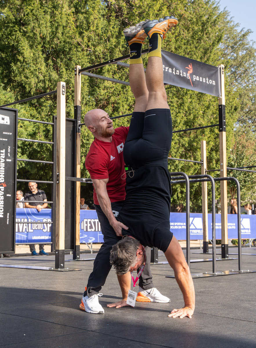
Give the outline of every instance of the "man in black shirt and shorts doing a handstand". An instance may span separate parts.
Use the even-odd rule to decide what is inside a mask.
[[[123,157],[128,167],[126,198],[118,216],[129,229],[116,231],[125,236],[112,247],[111,263],[117,274],[136,270],[144,262],[143,247],[155,246],[165,253],[182,291],[184,307],[169,317],[189,317],[194,313],[193,280],[177,239],[170,232],[171,185],[168,153],[172,122],[163,85],[161,42],[169,27],[177,24],[173,16],[139,23],[126,30],[130,48],[130,86],[135,97]],[[149,37],[146,76],[141,59],[143,40]]]

